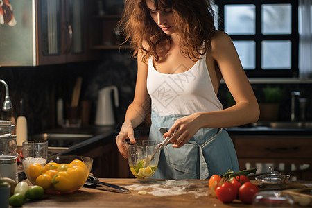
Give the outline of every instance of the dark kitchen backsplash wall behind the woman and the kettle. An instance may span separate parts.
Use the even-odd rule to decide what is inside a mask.
[[[19,101],[24,99],[24,116],[28,120],[28,135],[55,128],[55,103],[62,98],[71,102],[73,86],[78,76],[83,77],[80,100],[92,102],[90,123],[94,124],[98,90],[110,85],[119,89],[120,106],[116,109],[117,122],[123,121],[125,111],[132,102],[135,92],[137,62],[129,51],[107,51],[101,61],[59,64],[40,67],[0,67],[0,78],[5,80],[10,89],[14,116],[20,114]],[[262,88],[266,84],[252,85],[258,101],[262,100]],[[277,86],[277,84],[272,85]],[[291,92],[300,91],[308,98],[306,119],[312,120],[311,84],[279,85],[283,91],[283,101],[279,109],[279,120],[289,121],[291,116]],[[0,103],[5,96],[4,87],[0,87]],[[227,107],[227,87],[220,85],[219,98]],[[8,114],[0,110],[0,119],[7,119]]]

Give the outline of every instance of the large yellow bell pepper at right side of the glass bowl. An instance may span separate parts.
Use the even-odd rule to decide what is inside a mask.
[[[87,180],[85,170],[80,166],[67,168],[67,171],[58,172],[53,177],[53,187],[62,193],[77,191]]]

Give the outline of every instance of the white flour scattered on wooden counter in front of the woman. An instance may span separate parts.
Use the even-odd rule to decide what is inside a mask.
[[[155,182],[155,184],[147,185],[130,185],[126,187],[133,191],[146,191],[146,193],[152,194],[153,196],[176,196],[186,193],[193,193],[196,198],[200,196],[208,196],[207,189],[198,189],[196,191],[188,191],[191,188],[191,184],[186,180],[166,180],[164,182]],[[144,193],[145,194],[145,193]]]

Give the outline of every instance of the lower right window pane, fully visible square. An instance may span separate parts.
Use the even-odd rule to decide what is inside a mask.
[[[291,69],[291,41],[262,42],[262,69]]]

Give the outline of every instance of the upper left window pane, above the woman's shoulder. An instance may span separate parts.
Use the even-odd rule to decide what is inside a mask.
[[[229,35],[254,35],[255,9],[253,4],[225,5],[225,32]]]

